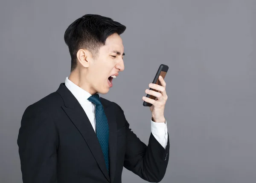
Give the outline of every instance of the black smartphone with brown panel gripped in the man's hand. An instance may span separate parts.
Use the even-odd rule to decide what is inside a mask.
[[[159,78],[159,76],[162,76],[163,79],[164,79],[165,76],[166,76],[166,73],[167,73],[168,69],[169,69],[168,66],[166,66],[166,65],[164,65],[164,64],[161,64],[161,65],[159,66],[158,70],[157,70],[157,74],[155,75],[154,80],[153,80],[152,83],[162,86],[158,78]],[[153,91],[155,91],[155,92],[159,92],[159,91],[157,91],[157,90],[155,90],[155,89],[151,89],[151,88],[150,88],[150,90],[153,90]],[[156,99],[155,96],[152,96],[152,95],[150,95],[150,94],[147,94],[146,97],[151,98],[151,99],[153,99],[153,100]],[[152,106],[152,104],[151,104],[151,103],[147,103],[146,101],[143,101],[143,106],[148,106],[148,107],[150,107],[150,106]]]

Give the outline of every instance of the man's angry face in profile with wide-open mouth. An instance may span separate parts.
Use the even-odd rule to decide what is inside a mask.
[[[105,45],[99,49],[94,62],[87,68],[86,80],[90,87],[88,91],[90,94],[108,93],[113,80],[118,79],[118,77],[111,78],[111,75],[125,69],[123,54],[124,46],[121,37],[118,34],[112,34],[106,39]],[[112,79],[111,83],[109,78]]]

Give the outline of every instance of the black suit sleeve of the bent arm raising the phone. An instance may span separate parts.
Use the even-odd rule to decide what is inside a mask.
[[[169,134],[166,149],[151,133],[148,146],[143,143],[129,128],[129,123],[121,107],[126,128],[126,151],[124,167],[148,182],[160,182],[169,161]]]

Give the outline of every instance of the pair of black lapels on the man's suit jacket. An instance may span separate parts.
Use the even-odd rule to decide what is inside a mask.
[[[64,83],[61,83],[57,92],[64,100],[65,106],[62,109],[70,118],[72,123],[76,126],[84,140],[86,141],[90,151],[92,152],[96,162],[98,163],[102,173],[110,182],[113,182],[114,173],[116,169],[116,118],[111,110],[111,105],[107,105],[101,98],[102,106],[104,108],[109,125],[109,163],[110,163],[110,176],[105,165],[104,155],[100,147],[96,133],[88,119],[84,109],[81,107],[76,97],[67,89]]]

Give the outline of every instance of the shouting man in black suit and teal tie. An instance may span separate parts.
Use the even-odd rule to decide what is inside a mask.
[[[58,90],[28,106],[19,146],[23,183],[121,183],[122,169],[149,182],[163,179],[169,160],[166,83],[150,86],[148,146],[131,131],[121,107],[99,96],[124,70],[120,34],[111,18],[86,14],[65,31],[71,73]]]

